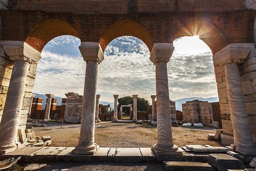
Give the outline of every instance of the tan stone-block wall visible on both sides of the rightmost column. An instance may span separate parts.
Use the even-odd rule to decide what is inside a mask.
[[[244,62],[238,64],[238,68],[240,71],[240,79],[242,82],[252,136],[254,142],[256,142],[256,49],[254,44],[249,44],[247,46],[248,48],[251,48],[251,51],[247,58],[244,59]],[[233,136],[225,70],[223,66],[216,65],[215,63],[214,67],[219,95],[223,134]]]

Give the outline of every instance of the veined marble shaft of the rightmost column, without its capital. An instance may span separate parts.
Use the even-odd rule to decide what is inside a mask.
[[[234,132],[234,144],[239,152],[250,153],[255,149],[248,119],[243,89],[237,63],[224,65],[228,99]]]

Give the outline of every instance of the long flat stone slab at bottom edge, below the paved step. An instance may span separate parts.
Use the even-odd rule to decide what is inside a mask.
[[[164,167],[166,170],[176,171],[176,170],[184,170],[184,171],[198,171],[205,170],[211,171],[212,167],[206,163],[200,162],[167,162],[163,161]]]

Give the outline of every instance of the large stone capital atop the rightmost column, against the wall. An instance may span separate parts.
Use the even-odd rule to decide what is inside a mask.
[[[229,44],[214,54],[213,62],[219,66],[224,66],[228,63],[242,63],[251,51],[252,45],[254,46],[251,43]]]

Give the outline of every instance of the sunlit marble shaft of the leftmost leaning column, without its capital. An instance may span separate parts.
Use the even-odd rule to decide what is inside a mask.
[[[22,60],[14,61],[0,123],[0,146],[15,145],[17,140],[19,118],[28,75],[28,64],[28,62]]]

